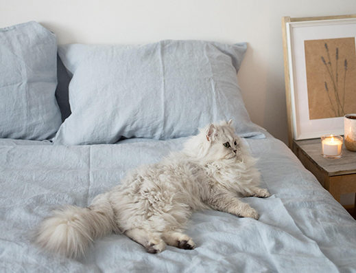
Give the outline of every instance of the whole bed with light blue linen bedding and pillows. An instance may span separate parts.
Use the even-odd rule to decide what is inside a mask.
[[[1,61],[22,64],[0,68],[2,75],[7,73],[0,80],[1,272],[356,272],[356,221],[283,142],[248,118],[236,80],[244,43],[65,45],[58,47],[57,62],[53,36],[36,22],[0,32],[1,41],[8,41],[0,43]],[[40,54],[6,55],[4,45],[10,41],[7,50],[21,45],[21,52],[37,47]],[[112,56],[120,56],[120,67]],[[142,73],[123,69],[125,60]],[[18,78],[9,69],[19,72]],[[156,87],[157,96],[150,93]],[[26,95],[9,98],[4,93],[9,88]],[[158,162],[181,149],[196,127],[228,116],[259,159],[261,187],[272,195],[244,198],[259,212],[258,221],[213,210],[195,212],[187,234],[196,248],[167,246],[160,254],[147,253],[121,234],[98,239],[77,260],[58,259],[32,243],[32,231],[54,208],[90,205],[131,168]]]

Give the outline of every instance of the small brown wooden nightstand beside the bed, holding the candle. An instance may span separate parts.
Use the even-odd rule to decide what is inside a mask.
[[[348,151],[343,144],[341,158],[324,158],[321,155],[320,138],[293,140],[292,148],[305,168],[316,176],[337,201],[340,202],[340,195],[344,193],[356,193],[356,152]],[[354,208],[356,212],[356,206]]]

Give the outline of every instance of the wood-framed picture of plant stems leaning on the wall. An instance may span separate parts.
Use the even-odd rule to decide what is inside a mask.
[[[356,14],[282,21],[289,146],[343,135],[356,113]]]

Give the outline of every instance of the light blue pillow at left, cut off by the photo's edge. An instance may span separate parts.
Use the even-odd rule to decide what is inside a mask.
[[[0,29],[0,138],[45,140],[62,120],[56,35],[34,21]]]

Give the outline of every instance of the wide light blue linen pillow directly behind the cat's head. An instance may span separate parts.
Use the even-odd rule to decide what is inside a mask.
[[[245,52],[246,43],[206,41],[61,45],[72,113],[55,144],[180,138],[230,118],[239,135],[261,136],[237,83]]]

